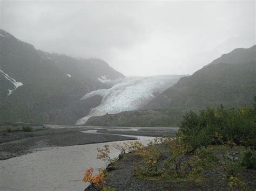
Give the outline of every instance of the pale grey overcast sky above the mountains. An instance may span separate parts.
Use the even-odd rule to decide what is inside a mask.
[[[1,28],[124,75],[192,74],[255,44],[255,1],[2,1]]]

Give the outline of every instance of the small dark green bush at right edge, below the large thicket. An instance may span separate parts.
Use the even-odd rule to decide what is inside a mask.
[[[242,152],[239,158],[240,165],[247,169],[256,169],[256,151],[250,148]]]

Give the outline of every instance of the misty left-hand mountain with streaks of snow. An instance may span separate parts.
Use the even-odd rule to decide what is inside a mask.
[[[0,30],[0,121],[75,124],[102,100],[81,97],[123,78],[103,60],[39,51]]]

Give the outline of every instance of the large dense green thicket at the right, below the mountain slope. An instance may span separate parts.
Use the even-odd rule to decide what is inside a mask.
[[[178,138],[183,144],[191,145],[193,150],[226,142],[256,148],[256,98],[254,101],[252,107],[240,109],[224,109],[220,105],[217,109],[207,108],[198,114],[190,111],[181,121]]]

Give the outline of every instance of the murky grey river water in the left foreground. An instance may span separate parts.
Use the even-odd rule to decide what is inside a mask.
[[[143,144],[154,138],[133,137],[139,138]],[[124,142],[129,141],[107,143],[110,145],[111,157],[119,154],[113,144]],[[88,185],[81,181],[83,171],[90,167],[106,167],[105,162],[96,159],[97,148],[105,144],[44,148],[21,157],[2,160],[0,190],[84,190]]]

